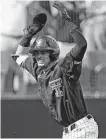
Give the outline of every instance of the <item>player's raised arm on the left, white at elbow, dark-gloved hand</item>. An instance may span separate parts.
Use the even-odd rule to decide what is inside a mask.
[[[44,13],[36,15],[31,25],[25,29],[25,35],[23,36],[15,54],[12,54],[12,58],[20,65],[28,58],[30,41],[34,35],[42,30],[47,20],[47,16]]]

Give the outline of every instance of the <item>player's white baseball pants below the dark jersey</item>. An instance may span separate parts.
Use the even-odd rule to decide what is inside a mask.
[[[91,118],[88,118],[91,116]],[[98,125],[92,115],[87,115],[77,122],[65,127],[63,130],[63,139],[97,139]]]

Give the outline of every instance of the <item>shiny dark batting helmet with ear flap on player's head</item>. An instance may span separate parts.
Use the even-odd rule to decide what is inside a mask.
[[[29,53],[34,53],[35,51],[50,51],[51,61],[55,61],[59,58],[60,48],[57,41],[49,36],[38,36],[33,44],[29,48]]]

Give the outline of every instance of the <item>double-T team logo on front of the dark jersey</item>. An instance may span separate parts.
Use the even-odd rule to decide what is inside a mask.
[[[63,92],[61,91],[61,89],[62,89],[62,79],[61,78],[58,78],[56,80],[49,82],[49,86],[51,87],[52,91],[55,90],[56,97],[63,96]]]

